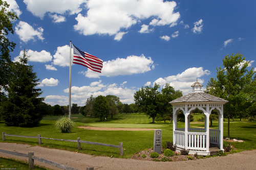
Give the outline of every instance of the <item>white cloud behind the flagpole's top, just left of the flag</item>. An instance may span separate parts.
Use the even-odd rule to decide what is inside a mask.
[[[73,48],[72,52],[73,54]],[[73,57],[73,55],[72,55]],[[70,46],[64,45],[64,46],[58,46],[56,53],[53,55],[53,64],[59,65],[59,66],[69,66],[70,64]],[[72,59],[73,61],[73,59]]]

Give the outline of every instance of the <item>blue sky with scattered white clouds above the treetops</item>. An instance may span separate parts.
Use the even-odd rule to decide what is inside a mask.
[[[206,87],[222,59],[240,53],[255,70],[256,1],[7,1],[16,61],[26,48],[45,103],[69,103],[69,43],[103,60],[102,73],[72,65],[72,103],[92,94],[134,103],[146,85],[169,83],[184,94]]]

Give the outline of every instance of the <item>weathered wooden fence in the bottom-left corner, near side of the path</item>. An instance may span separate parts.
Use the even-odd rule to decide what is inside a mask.
[[[0,152],[6,153],[6,154],[11,154],[11,155],[16,155],[16,156],[22,156],[22,157],[27,157],[29,158],[29,169],[34,169],[34,160],[40,161],[40,162],[44,162],[47,163],[49,165],[61,168],[61,169],[65,169],[65,170],[78,170],[76,168],[67,166],[67,165],[63,165],[57,162],[53,162],[44,158],[40,158],[37,156],[34,156],[34,152],[29,152],[28,154],[23,154],[23,153],[18,153],[18,152],[11,152],[11,151],[6,151],[6,150],[0,150]]]

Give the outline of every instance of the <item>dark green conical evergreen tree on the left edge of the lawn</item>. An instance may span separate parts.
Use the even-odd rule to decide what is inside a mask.
[[[8,99],[3,104],[3,118],[8,126],[33,127],[42,119],[40,104],[44,98],[39,98],[42,93],[40,88],[36,88],[39,79],[33,72],[33,66],[28,65],[28,59],[24,51],[19,62],[11,65]]]

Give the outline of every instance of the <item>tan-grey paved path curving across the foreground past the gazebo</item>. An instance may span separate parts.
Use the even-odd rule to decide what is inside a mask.
[[[256,150],[244,151],[229,154],[222,157],[207,159],[177,161],[177,162],[154,162],[134,159],[110,158],[102,156],[92,156],[76,152],[31,147],[28,144],[1,143],[0,149],[12,152],[28,154],[34,152],[37,157],[45,158],[57,163],[68,165],[78,169],[94,167],[94,169],[256,169]],[[25,157],[18,157],[0,152],[0,156],[28,160]],[[54,166],[35,161],[35,164],[52,169],[59,169]],[[8,167],[6,167],[8,168]],[[9,167],[11,168],[11,167]]]

